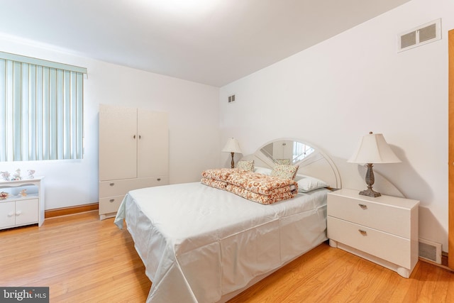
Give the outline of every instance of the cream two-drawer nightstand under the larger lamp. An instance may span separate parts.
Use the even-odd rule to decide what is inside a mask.
[[[418,262],[419,201],[359,192],[340,189],[328,194],[330,246],[409,277]]]

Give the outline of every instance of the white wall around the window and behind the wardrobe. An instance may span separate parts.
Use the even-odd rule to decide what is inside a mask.
[[[25,176],[26,170],[34,169],[35,175],[45,176],[45,209],[98,201],[101,103],[169,113],[170,183],[197,181],[201,170],[218,165],[217,87],[79,57],[6,35],[0,36],[0,49],[88,69],[88,79],[84,79],[84,159],[0,163],[0,171],[20,168]]]

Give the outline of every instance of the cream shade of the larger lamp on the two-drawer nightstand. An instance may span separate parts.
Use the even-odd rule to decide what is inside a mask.
[[[397,163],[402,162],[394,154],[381,133],[362,136],[353,156],[352,163]]]

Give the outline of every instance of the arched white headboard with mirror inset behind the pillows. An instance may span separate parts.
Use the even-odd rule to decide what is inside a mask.
[[[255,167],[274,167],[279,160],[299,165],[298,175],[309,175],[330,184],[333,188],[341,188],[341,175],[333,160],[311,143],[300,139],[280,138],[262,145],[252,155],[241,160],[254,160]]]

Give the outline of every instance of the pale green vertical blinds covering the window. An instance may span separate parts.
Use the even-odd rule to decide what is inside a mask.
[[[82,159],[86,73],[0,52],[0,161]]]

